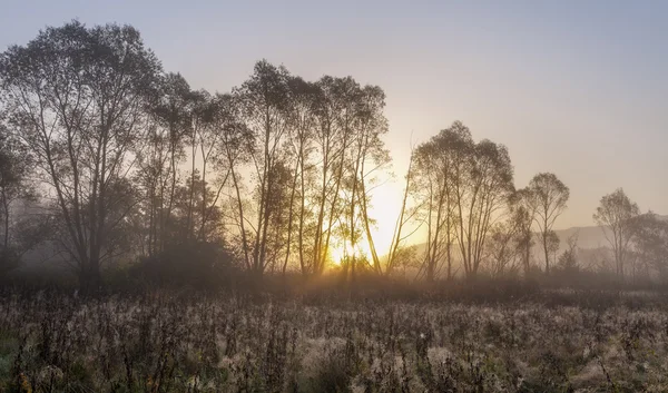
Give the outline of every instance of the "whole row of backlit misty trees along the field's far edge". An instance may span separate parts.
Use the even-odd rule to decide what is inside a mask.
[[[73,21],[8,48],[0,87],[0,272],[43,243],[86,291],[105,264],[159,263],[179,247],[255,278],[321,275],[333,247],[351,250],[352,281],[411,263],[426,281],[452,278],[455,264],[470,278],[529,272],[534,240],[544,271],[557,263],[568,187],[543,173],[515,189],[508,149],[474,141],[459,121],[412,150],[391,246],[377,249],[370,210],[391,165],[385,94],[352,77],[308,81],[262,60],[210,94],[165,71],[135,28]],[[621,190],[595,218],[612,229],[619,275],[631,245],[666,265],[664,222]],[[416,228],[422,255],[406,246]],[[362,243],[369,255],[355,252]]]

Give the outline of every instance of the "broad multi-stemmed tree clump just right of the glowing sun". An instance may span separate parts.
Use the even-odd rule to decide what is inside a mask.
[[[433,279],[456,240],[464,274],[474,278],[484,259],[490,229],[507,213],[514,193],[508,149],[491,140],[473,141],[455,121],[415,151],[415,184],[428,227],[424,272]]]

